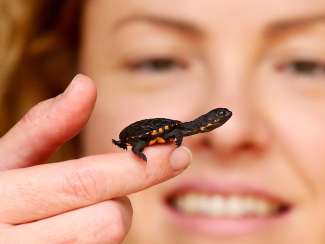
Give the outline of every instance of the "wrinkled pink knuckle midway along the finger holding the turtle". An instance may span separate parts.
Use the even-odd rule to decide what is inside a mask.
[[[71,172],[64,174],[62,190],[72,196],[72,199],[89,203],[96,201],[98,196],[97,178],[94,171],[88,167],[74,168]]]

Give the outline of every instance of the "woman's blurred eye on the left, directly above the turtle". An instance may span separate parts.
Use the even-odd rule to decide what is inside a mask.
[[[135,61],[129,64],[131,70],[143,70],[143,71],[171,71],[177,68],[185,68],[186,64],[178,60],[168,57],[150,58],[141,61]]]

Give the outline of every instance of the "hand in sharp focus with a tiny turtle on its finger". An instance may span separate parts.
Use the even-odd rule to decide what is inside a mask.
[[[96,88],[76,76],[0,138],[0,243],[120,243],[132,207],[126,195],[183,171],[190,152],[173,145],[41,164],[88,120]],[[149,204],[149,203],[148,203]]]

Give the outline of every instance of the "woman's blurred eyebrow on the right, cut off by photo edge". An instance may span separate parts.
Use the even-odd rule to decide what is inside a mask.
[[[276,21],[266,27],[265,35],[272,35],[277,32],[303,27],[317,22],[325,22],[325,14],[318,14],[318,15],[301,17],[296,19],[285,19],[285,20]]]

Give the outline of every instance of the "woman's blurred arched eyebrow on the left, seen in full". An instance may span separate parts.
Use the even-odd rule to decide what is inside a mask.
[[[145,21],[149,23],[153,23],[156,25],[161,25],[164,27],[171,27],[178,31],[189,33],[193,35],[199,35],[202,33],[202,30],[195,26],[194,24],[180,20],[173,17],[167,16],[155,16],[150,14],[133,14],[124,18],[121,18],[113,25],[113,30],[117,30],[122,26],[129,24],[134,21]]]

